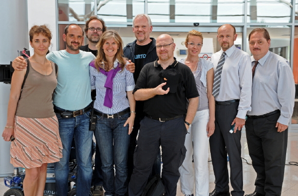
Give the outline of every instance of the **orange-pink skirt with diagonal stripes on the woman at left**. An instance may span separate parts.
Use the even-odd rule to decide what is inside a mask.
[[[58,119],[15,116],[14,137],[10,146],[10,163],[14,167],[36,168],[60,161],[62,143]]]

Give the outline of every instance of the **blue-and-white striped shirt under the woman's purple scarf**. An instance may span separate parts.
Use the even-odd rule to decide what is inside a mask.
[[[126,63],[128,64],[128,62]],[[118,66],[118,60],[114,62],[114,68]],[[106,93],[107,76],[99,72],[96,68],[89,66],[90,70],[90,82],[91,89],[96,89],[96,100],[94,102],[94,108],[104,114],[115,114],[129,108],[129,102],[126,98],[126,91],[133,91],[135,88],[134,76],[128,70],[126,66],[123,70],[119,70],[113,79],[113,106],[108,108],[104,106],[104,97]]]

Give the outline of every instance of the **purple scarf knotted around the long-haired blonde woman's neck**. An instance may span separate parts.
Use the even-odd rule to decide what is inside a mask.
[[[95,67],[95,62],[92,61],[89,64],[91,67]],[[113,65],[114,66],[114,65]],[[111,108],[113,106],[113,79],[115,78],[117,72],[120,70],[120,63],[118,62],[118,65],[115,69],[111,69],[109,72],[106,72],[104,69],[99,68],[99,71],[106,76],[106,81],[104,84],[104,87],[106,87],[105,91],[105,97],[104,97],[104,102],[103,105]]]

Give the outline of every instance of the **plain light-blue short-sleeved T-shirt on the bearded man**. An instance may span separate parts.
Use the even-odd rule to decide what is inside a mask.
[[[89,105],[92,102],[89,63],[95,56],[82,50],[76,55],[60,50],[50,52],[46,58],[59,67],[54,105],[69,111],[81,110]]]

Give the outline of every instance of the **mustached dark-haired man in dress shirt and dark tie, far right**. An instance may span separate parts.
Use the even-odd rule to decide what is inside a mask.
[[[245,128],[257,177],[255,191],[247,195],[281,195],[295,98],[293,73],[286,59],[269,51],[271,40],[265,28],[253,29],[248,40],[253,83]]]

